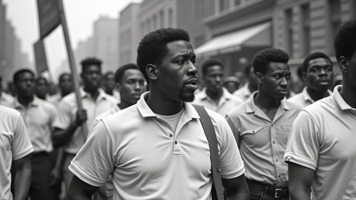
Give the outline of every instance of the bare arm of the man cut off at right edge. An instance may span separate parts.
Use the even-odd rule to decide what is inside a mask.
[[[310,200],[314,170],[288,162],[288,187],[291,200]]]

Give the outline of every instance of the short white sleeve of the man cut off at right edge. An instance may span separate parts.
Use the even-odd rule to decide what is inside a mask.
[[[305,110],[299,112],[290,129],[284,162],[315,170],[319,156],[319,128]]]

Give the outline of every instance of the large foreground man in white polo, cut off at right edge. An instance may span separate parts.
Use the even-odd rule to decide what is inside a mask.
[[[336,34],[334,47],[343,85],[302,109],[288,139],[292,200],[356,199],[356,20]]]

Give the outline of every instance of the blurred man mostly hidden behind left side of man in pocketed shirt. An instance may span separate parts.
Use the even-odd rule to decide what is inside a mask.
[[[248,98],[250,98],[252,93],[258,89],[258,83],[255,77],[255,73],[253,72],[252,64],[247,64],[244,72],[248,82],[245,83],[242,88],[236,90],[233,94],[246,101]]]

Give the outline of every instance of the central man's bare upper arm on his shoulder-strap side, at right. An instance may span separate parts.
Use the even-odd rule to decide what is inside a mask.
[[[221,178],[221,181],[223,182],[229,200],[250,199],[250,190],[248,190],[245,174],[232,179]]]

